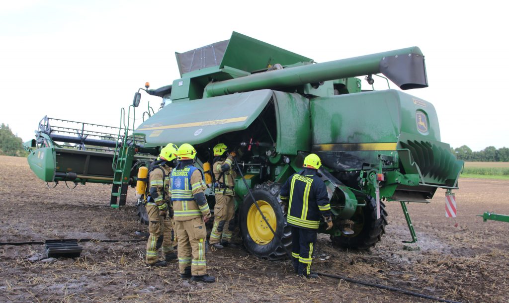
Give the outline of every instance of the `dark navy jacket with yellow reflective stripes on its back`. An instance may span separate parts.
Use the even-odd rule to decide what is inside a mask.
[[[289,225],[318,229],[321,217],[330,217],[327,188],[314,169],[294,173],[279,192],[279,198],[288,202]]]

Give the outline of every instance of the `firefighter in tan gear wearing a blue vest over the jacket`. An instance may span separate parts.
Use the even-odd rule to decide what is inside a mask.
[[[177,158],[179,164],[171,174],[170,194],[175,214],[180,277],[215,282],[214,277],[207,275],[205,222],[211,215],[203,192],[207,187],[202,172],[194,167],[196,149],[184,143],[177,150]]]

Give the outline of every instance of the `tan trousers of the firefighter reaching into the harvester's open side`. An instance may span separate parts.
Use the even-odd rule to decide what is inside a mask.
[[[216,205],[214,206],[214,225],[210,232],[209,244],[219,241],[231,241],[235,228],[235,200],[233,196],[216,193]]]

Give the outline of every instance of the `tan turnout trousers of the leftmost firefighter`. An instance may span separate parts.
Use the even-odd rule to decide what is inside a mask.
[[[159,216],[159,208],[156,205],[147,204],[145,207],[149,215],[149,240],[147,242],[147,253],[145,256],[147,264],[154,264],[159,260],[157,240],[161,235],[161,231],[163,236],[161,246],[163,256],[173,253],[173,223],[169,216]]]

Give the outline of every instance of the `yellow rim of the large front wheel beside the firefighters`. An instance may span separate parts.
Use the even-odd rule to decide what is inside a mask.
[[[272,229],[276,231],[277,220],[272,206],[264,200],[258,200],[257,203]],[[274,238],[274,234],[270,231],[254,203],[247,212],[247,231],[253,241],[259,245],[267,245]]]

